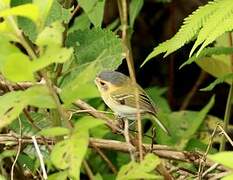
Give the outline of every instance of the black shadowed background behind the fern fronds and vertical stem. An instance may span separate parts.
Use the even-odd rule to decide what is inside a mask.
[[[105,26],[118,17],[116,2],[115,0],[106,1]],[[144,88],[167,87],[166,97],[174,111],[180,109],[183,100],[201,74],[201,69],[195,63],[179,70],[179,66],[188,59],[193,43],[185,45],[166,58],[159,55],[142,68],[139,66],[155,46],[171,38],[179,30],[185,17],[206,3],[207,0],[171,0],[170,2],[144,0],[143,8],[135,21],[131,43],[137,81]],[[119,71],[128,74],[126,62],[119,67]],[[205,73],[199,89],[206,87],[213,80],[211,75]],[[200,110],[207,104],[210,97],[216,94],[215,106],[210,113],[223,118],[228,88],[228,85],[221,84],[212,92],[197,91],[187,109]]]

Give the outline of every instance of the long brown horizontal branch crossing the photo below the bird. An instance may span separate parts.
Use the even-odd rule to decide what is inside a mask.
[[[0,134],[0,144],[2,145],[18,145],[18,139],[20,137],[14,136],[13,134]],[[53,139],[45,138],[48,144],[54,144]],[[36,141],[38,144],[45,144],[44,140],[41,137],[37,137]],[[32,144],[33,141],[31,137],[24,136],[21,138],[22,144]],[[129,152],[129,144],[126,142],[121,142],[117,140],[108,140],[108,139],[98,139],[98,138],[90,138],[89,139],[89,147],[95,148],[98,147],[100,149],[108,149],[111,151],[121,151],[121,152]],[[143,148],[145,151],[151,151],[150,144],[143,144]],[[133,150],[136,150],[135,147],[132,147]],[[188,152],[188,151],[178,151],[166,145],[158,145],[155,144],[151,151],[156,154],[160,158],[165,158],[169,160],[177,160],[188,163],[193,163],[195,165],[199,164],[200,159],[203,157],[203,154],[196,152]],[[206,166],[211,167],[215,163],[208,158],[206,159]],[[229,169],[225,168],[222,165],[216,167],[217,170],[220,171],[229,171]]]

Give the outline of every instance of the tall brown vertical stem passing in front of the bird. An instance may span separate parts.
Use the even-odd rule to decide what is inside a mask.
[[[129,70],[129,75],[132,80],[133,86],[136,87],[137,82],[135,78],[135,70],[134,70],[134,61],[133,54],[131,49],[130,37],[128,33],[128,8],[126,0],[118,0],[118,8],[122,25],[122,44],[125,51],[125,57],[127,61],[127,66]],[[143,160],[143,147],[142,147],[142,123],[141,123],[141,115],[139,112],[139,95],[138,90],[135,88],[135,100],[136,100],[136,108],[137,108],[137,131],[138,131],[138,150],[139,150],[139,161]]]

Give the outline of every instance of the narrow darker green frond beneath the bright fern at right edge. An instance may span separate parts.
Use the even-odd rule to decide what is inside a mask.
[[[190,57],[187,61],[185,61],[179,69],[183,68],[185,65],[191,64],[195,61],[198,61],[204,57],[210,57],[212,55],[221,55],[221,54],[233,54],[233,48],[230,47],[209,47],[205,48],[201,51],[200,54],[194,54],[192,57]]]

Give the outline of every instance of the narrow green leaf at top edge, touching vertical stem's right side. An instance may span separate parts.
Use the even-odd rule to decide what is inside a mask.
[[[132,0],[129,5],[129,24],[134,26],[134,21],[142,9],[144,0]]]

